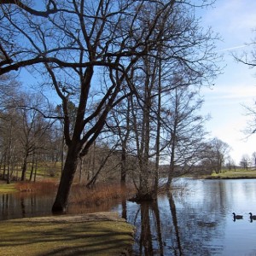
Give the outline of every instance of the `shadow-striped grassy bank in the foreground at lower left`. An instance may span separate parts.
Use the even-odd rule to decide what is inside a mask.
[[[115,212],[0,222],[0,255],[123,255],[133,226]],[[127,254],[125,254],[127,255]]]

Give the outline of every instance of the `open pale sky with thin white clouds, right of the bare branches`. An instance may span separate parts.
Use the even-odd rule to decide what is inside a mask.
[[[210,113],[207,131],[230,145],[230,157],[236,164],[243,155],[251,157],[256,152],[256,134],[248,137],[244,132],[250,118],[243,107],[253,107],[256,101],[256,67],[236,62],[231,53],[249,53],[245,44],[256,38],[255,10],[255,0],[217,0],[213,9],[201,14],[202,25],[211,26],[222,38],[217,51],[224,55],[221,64],[225,66],[214,86],[202,89],[205,102],[201,113]]]

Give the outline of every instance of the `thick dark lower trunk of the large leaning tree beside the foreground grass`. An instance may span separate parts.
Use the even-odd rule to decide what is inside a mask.
[[[75,144],[75,143],[73,143]],[[61,181],[58,187],[52,212],[66,212],[67,201],[70,189],[73,183],[73,177],[76,172],[79,160],[79,150],[76,146],[71,146],[67,150],[67,158],[61,174]]]

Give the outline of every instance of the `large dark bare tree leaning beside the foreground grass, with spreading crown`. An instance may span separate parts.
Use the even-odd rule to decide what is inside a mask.
[[[0,75],[33,66],[61,99],[64,115],[56,118],[64,120],[67,158],[54,212],[66,210],[79,157],[99,136],[109,111],[125,97],[137,95],[131,69],[139,68],[144,56],[156,56],[161,44],[166,61],[175,60],[173,66],[179,66],[177,72],[186,70],[187,79],[202,84],[214,77],[212,32],[198,30],[190,13],[194,8],[185,0],[52,0],[43,11],[35,11],[20,1],[2,1]],[[107,82],[104,86],[96,73]],[[76,106],[73,127],[70,102]],[[90,108],[94,104],[96,108]]]

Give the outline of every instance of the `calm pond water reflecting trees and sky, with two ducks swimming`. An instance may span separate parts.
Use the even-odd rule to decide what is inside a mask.
[[[256,180],[178,179],[157,202],[123,201],[68,213],[116,211],[136,226],[133,255],[256,255]],[[0,195],[0,219],[50,215],[52,197]],[[234,221],[232,212],[243,215]]]

